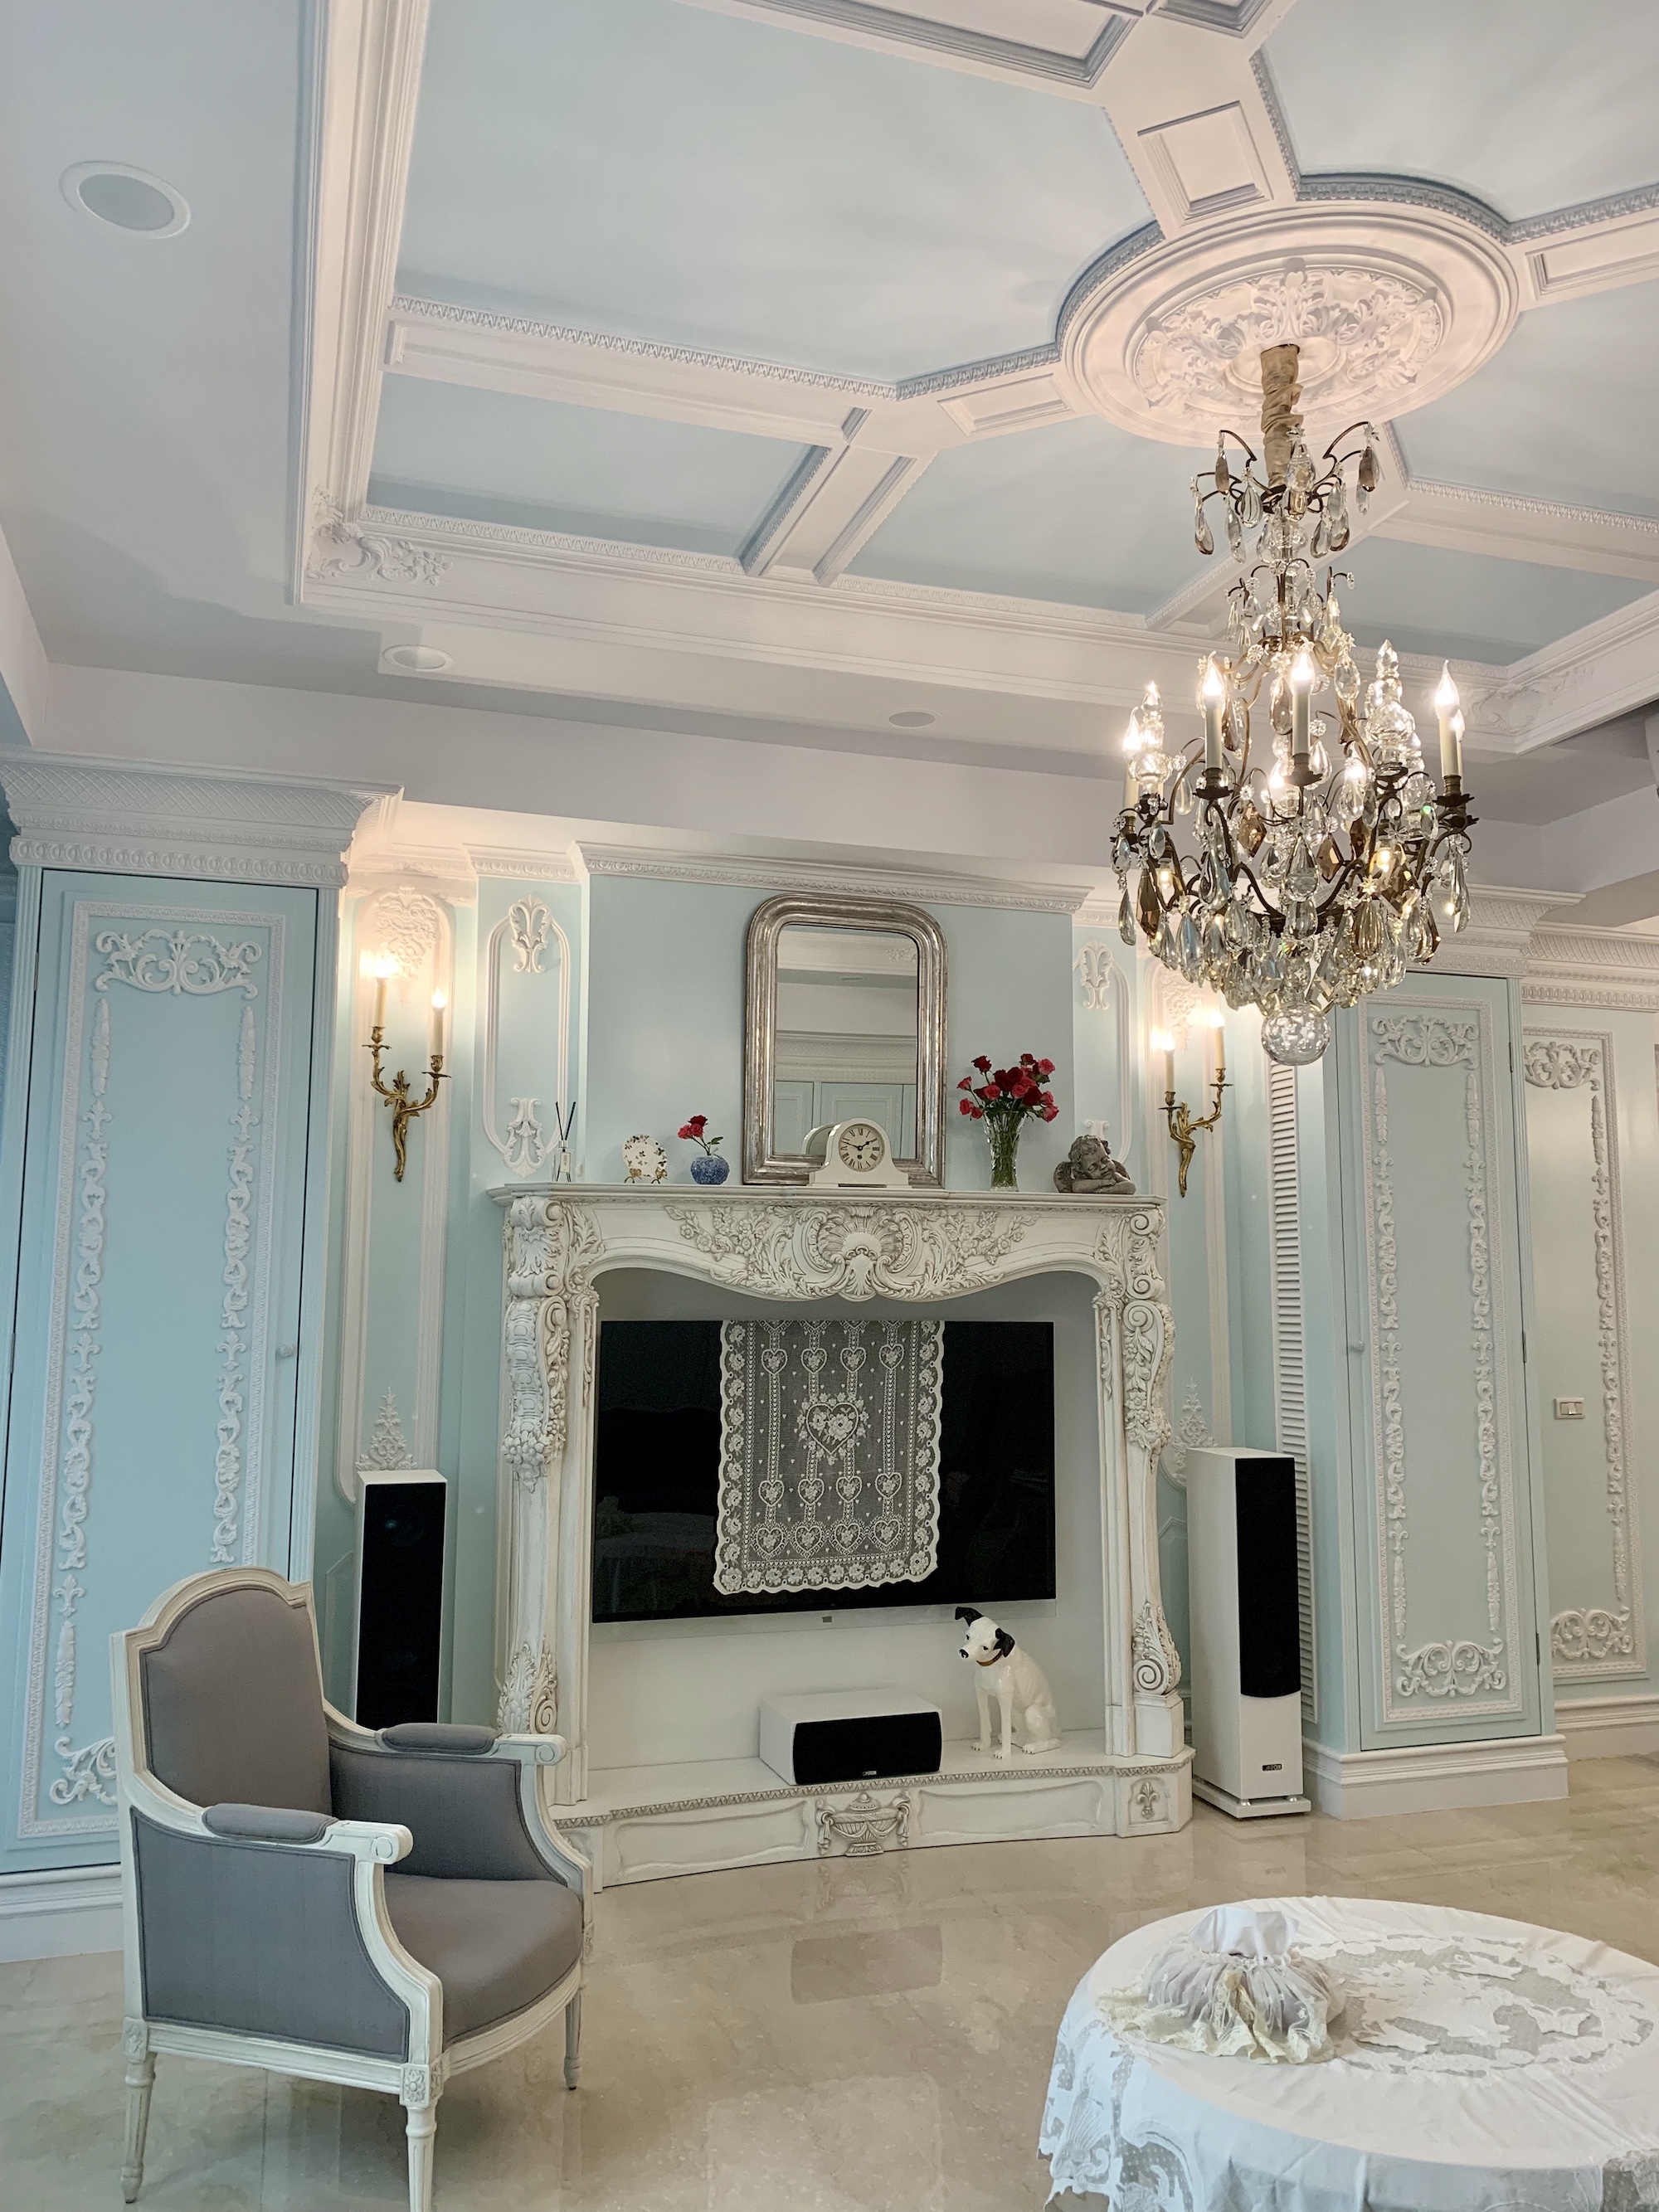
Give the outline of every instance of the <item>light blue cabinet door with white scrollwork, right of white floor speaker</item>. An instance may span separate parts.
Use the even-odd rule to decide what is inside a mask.
[[[1345,1018],[1360,1743],[1540,1730],[1511,993]]]

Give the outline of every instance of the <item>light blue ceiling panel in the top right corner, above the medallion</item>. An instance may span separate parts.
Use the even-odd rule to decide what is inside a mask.
[[[1436,177],[1511,221],[1659,181],[1652,0],[1298,0],[1267,62],[1303,170]]]

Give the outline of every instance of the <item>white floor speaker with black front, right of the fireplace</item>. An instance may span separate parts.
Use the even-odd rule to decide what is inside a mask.
[[[1237,1820],[1303,1796],[1296,1462],[1206,1444],[1186,1462],[1192,1794]]]

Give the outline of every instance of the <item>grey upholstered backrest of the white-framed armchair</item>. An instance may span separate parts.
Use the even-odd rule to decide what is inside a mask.
[[[327,1721],[303,1606],[206,1590],[144,1652],[148,1765],[190,1805],[330,1812]]]

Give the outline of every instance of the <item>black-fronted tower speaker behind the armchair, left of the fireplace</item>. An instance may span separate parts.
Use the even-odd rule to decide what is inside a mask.
[[[438,1719],[447,1495],[445,1478],[418,1467],[358,1471],[352,1712],[363,1728]]]

